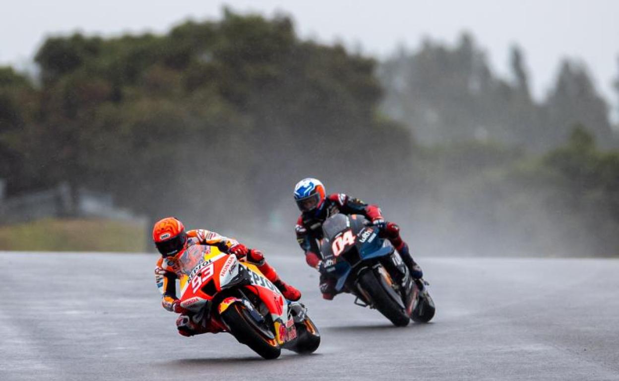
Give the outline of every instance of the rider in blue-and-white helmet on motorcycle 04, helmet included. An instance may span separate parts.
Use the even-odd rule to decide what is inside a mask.
[[[305,261],[321,272],[320,290],[322,298],[331,300],[335,296],[335,280],[322,271],[322,254],[318,240],[322,238],[322,223],[336,213],[361,214],[379,228],[379,237],[387,238],[402,257],[412,278],[423,277],[421,267],[410,256],[409,245],[400,237],[400,228],[393,222],[386,222],[381,209],[376,205],[366,204],[358,198],[351,198],[344,193],[326,196],[324,185],[316,178],[304,178],[295,185],[295,201],[301,210],[295,228],[297,241],[305,252]]]

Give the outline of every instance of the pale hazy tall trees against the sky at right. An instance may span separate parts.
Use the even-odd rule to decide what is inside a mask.
[[[380,66],[384,109],[425,144],[489,140],[542,152],[582,124],[605,148],[617,147],[609,106],[581,62],[560,62],[555,84],[539,102],[518,46],[509,63],[511,78],[498,77],[467,33],[455,46],[425,40],[417,51],[401,48]]]

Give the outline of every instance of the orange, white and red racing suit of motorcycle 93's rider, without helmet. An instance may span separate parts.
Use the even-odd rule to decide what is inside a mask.
[[[239,259],[245,258],[246,261],[255,264],[262,274],[282,291],[285,298],[294,301],[301,297],[301,293],[297,288],[287,285],[279,278],[275,269],[267,263],[264,255],[259,250],[248,249],[245,245],[232,238],[223,237],[218,233],[205,229],[189,230],[187,232],[185,249],[191,245],[215,246],[222,253],[235,254]],[[181,335],[192,336],[198,333],[220,332],[225,327],[220,326],[216,320],[206,320],[203,316],[191,314],[180,306],[180,300],[176,296],[176,280],[184,275],[183,269],[181,269],[180,258],[186,251],[185,249],[175,256],[160,257],[157,261],[155,282],[157,282],[157,288],[162,293],[162,306],[168,311],[181,314],[176,320],[176,327]]]

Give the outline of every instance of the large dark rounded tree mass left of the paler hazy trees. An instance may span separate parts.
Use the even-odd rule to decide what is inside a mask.
[[[230,203],[277,218],[299,178],[360,185],[361,168],[389,178],[410,151],[409,133],[376,113],[374,61],[300,40],[287,17],[226,10],[162,36],[53,37],[36,61],[31,144],[48,155],[29,162],[41,182],[109,191],[153,219],[238,225]],[[398,161],[383,170],[373,159]]]

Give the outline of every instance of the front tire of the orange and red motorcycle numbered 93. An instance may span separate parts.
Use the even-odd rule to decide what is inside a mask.
[[[246,312],[246,307],[241,303],[233,303],[222,313],[222,320],[230,329],[230,333],[236,340],[249,346],[254,352],[267,360],[276,359],[282,353],[274,335],[267,335],[257,327],[257,323]],[[266,328],[266,327],[265,327]]]

